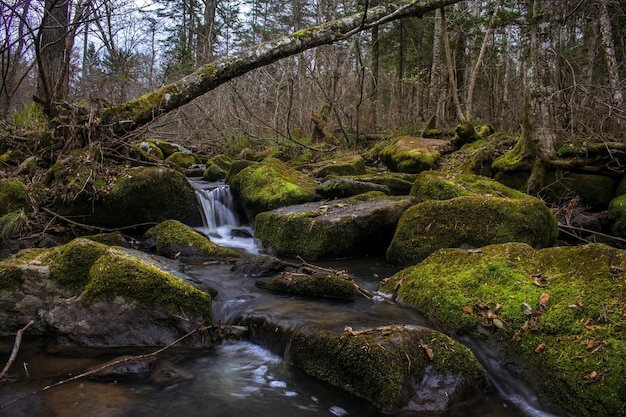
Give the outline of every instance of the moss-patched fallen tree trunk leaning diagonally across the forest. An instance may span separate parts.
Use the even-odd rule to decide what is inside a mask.
[[[261,43],[235,56],[216,60],[183,79],[127,103],[106,109],[100,127],[116,135],[143,126],[156,117],[183,106],[225,82],[255,68],[321,45],[332,44],[355,33],[405,17],[458,3],[460,0],[428,0],[384,4],[349,17],[304,29]]]

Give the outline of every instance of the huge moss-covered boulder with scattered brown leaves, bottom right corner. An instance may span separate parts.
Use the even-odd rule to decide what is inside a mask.
[[[381,291],[485,339],[558,415],[626,416],[625,271],[626,251],[602,244],[509,243],[439,250]]]

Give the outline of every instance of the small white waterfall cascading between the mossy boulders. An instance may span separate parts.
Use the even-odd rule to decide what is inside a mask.
[[[200,203],[203,227],[197,228],[217,245],[258,254],[261,248],[254,239],[254,230],[238,210],[230,187],[223,184],[192,181]]]

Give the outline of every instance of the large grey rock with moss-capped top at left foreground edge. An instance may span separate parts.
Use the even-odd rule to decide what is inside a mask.
[[[211,324],[211,296],[173,261],[79,238],[0,262],[0,333],[61,345],[165,346]],[[182,342],[202,347],[200,335]]]

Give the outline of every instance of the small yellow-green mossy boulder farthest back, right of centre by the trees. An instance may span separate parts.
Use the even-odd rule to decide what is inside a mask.
[[[443,152],[452,150],[447,140],[402,136],[380,150],[378,158],[390,171],[417,174],[435,169]]]

